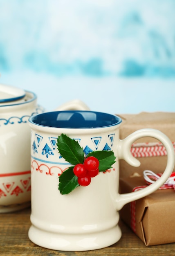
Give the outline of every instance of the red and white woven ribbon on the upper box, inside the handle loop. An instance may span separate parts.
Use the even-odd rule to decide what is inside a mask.
[[[175,149],[175,142],[172,142]],[[166,148],[161,142],[157,143],[134,143],[131,153],[134,157],[153,157],[167,155]]]

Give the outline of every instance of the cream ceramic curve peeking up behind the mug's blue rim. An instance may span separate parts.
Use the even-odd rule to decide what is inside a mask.
[[[62,111],[62,110],[90,110],[90,108],[81,100],[74,99],[72,101],[68,101],[54,111]]]

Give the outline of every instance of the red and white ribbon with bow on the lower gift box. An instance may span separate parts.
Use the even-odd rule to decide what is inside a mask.
[[[145,186],[137,186],[134,189],[132,189],[132,192],[138,191],[140,189],[144,189],[146,186],[154,183],[156,180],[161,177],[162,173],[155,174],[153,171],[145,170],[144,171],[144,180],[147,185]],[[159,188],[159,189],[174,189],[175,190],[175,172],[171,174],[171,176],[166,180],[166,182]],[[136,226],[135,226],[135,202],[133,201],[130,204],[130,210],[131,210],[131,228],[135,232]]]

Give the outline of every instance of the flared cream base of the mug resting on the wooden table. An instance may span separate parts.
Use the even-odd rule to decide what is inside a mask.
[[[57,234],[31,225],[29,239],[41,247],[58,251],[80,252],[101,249],[117,243],[121,238],[119,225],[89,234]]]

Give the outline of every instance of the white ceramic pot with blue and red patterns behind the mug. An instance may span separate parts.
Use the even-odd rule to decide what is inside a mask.
[[[88,109],[81,101],[58,108]],[[29,117],[45,112],[36,94],[0,85],[0,213],[17,211],[30,205],[30,128]]]

